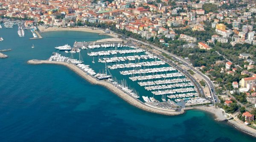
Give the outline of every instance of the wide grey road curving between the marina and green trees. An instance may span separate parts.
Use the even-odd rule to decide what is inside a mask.
[[[152,47],[152,48],[154,48],[154,49],[157,49],[158,51],[161,51],[161,52],[163,52],[163,53],[165,53],[165,54],[167,54],[167,55],[169,55],[169,56],[175,58],[176,60],[180,61],[183,65],[186,65],[186,66],[188,66],[189,68],[191,68],[192,71],[194,71],[195,73],[199,74],[199,75],[200,75],[202,78],[204,78],[204,80],[206,81],[207,85],[209,86],[210,93],[211,93],[211,95],[212,95],[213,103],[215,104],[214,99],[216,99],[216,102],[219,102],[219,99],[218,99],[218,97],[217,97],[216,94],[215,94],[215,88],[214,88],[214,85],[213,85],[212,81],[211,81],[211,80],[209,79],[209,77],[207,77],[205,74],[201,73],[201,71],[199,71],[198,69],[194,68],[194,67],[191,65],[190,62],[186,61],[186,60],[183,59],[182,57],[178,57],[178,56],[175,55],[175,54],[169,53],[168,51],[166,51],[166,50],[164,50],[164,49],[162,49],[162,48],[159,48],[159,47],[157,47],[157,46],[151,45],[150,43],[145,43],[145,42],[143,42],[143,41],[136,40],[136,39],[131,38],[131,37],[129,37],[128,39],[129,39],[129,40],[136,41],[136,42],[138,42],[138,43],[142,43],[142,44],[144,44],[144,45],[148,45],[148,46],[150,46],[150,47]]]

